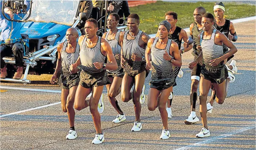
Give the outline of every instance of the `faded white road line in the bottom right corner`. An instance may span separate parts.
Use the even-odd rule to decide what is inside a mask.
[[[217,137],[214,137],[214,138],[211,138],[211,139],[207,139],[207,140],[202,141],[202,142],[198,142],[198,143],[195,143],[195,144],[192,144],[192,145],[187,145],[187,146],[184,146],[184,147],[180,147],[179,149],[176,149],[176,150],[187,150],[187,149],[190,149],[190,148],[195,148],[196,146],[201,146],[203,144],[207,144],[207,143],[216,141],[217,139],[222,139],[222,138],[230,137],[233,134],[238,134],[238,133],[241,133],[241,132],[244,132],[246,130],[253,129],[253,128],[254,127],[245,127],[245,128],[240,129],[240,130],[236,130],[233,133],[222,134],[220,136],[217,136]]]

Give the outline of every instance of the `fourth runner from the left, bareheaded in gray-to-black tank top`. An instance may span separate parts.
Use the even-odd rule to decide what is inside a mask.
[[[133,99],[135,121],[131,131],[140,131],[141,125],[141,103],[140,95],[146,78],[145,49],[150,37],[139,29],[140,17],[136,13],[129,15],[125,33],[120,34],[121,39],[121,66],[124,68],[121,86],[121,97],[123,102]],[[130,92],[134,85],[133,92]]]

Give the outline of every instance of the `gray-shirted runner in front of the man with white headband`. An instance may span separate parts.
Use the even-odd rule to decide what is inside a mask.
[[[203,138],[210,136],[210,130],[207,126],[207,106],[206,100],[211,84],[216,90],[216,102],[222,104],[227,93],[226,83],[228,78],[228,69],[224,65],[224,60],[237,52],[237,48],[228,38],[217,29],[213,29],[214,16],[211,13],[205,13],[202,17],[203,32],[200,34],[200,45],[202,52],[189,64],[189,68],[194,68],[200,60],[203,59],[201,79],[199,83],[200,115],[203,123],[202,130],[196,134],[196,137]],[[223,44],[230,50],[224,54]]]

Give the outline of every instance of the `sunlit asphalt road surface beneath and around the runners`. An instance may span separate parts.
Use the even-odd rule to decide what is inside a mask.
[[[211,149],[211,150],[255,150],[255,20],[234,24],[238,48],[234,59],[237,61],[236,81],[229,84],[228,96],[222,105],[214,102],[213,113],[208,114],[211,136],[195,138],[202,128],[199,121],[194,125],[185,125],[184,119],[190,114],[190,69],[188,63],[193,57],[190,52],[182,55],[184,76],[177,79],[172,102],[173,118],[169,119],[171,138],[159,140],[161,118],[158,110],[149,111],[147,96],[149,78],[146,79],[146,101],[142,105],[142,130],[131,132],[133,126],[133,103],[121,102],[119,105],[126,114],[126,121],[114,124],[116,112],[108,102],[104,92],[105,110],[101,115],[105,142],[92,145],[95,127],[89,108],[76,111],[75,127],[78,137],[65,140],[68,133],[68,117],[61,111],[61,105],[39,108],[6,117],[0,117],[1,150],[82,150],[82,149]],[[0,114],[27,110],[38,106],[60,102],[60,93],[3,89],[3,86],[60,90],[57,85],[49,84],[50,75],[29,75],[31,84],[1,83]],[[209,99],[209,98],[208,98]],[[199,100],[196,103],[196,115],[199,117]]]

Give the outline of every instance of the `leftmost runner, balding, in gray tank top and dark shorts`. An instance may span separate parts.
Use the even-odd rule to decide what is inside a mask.
[[[62,74],[59,79],[61,86],[61,108],[63,112],[67,112],[70,129],[66,139],[75,139],[77,137],[74,129],[74,96],[76,88],[79,84],[79,70],[76,68],[73,71],[69,70],[70,64],[76,62],[79,57],[79,44],[76,42],[78,39],[78,32],[76,28],[69,28],[66,31],[67,41],[61,43],[57,47],[58,60],[55,72],[51,77],[50,83],[54,84],[57,80],[57,74],[61,70]]]

